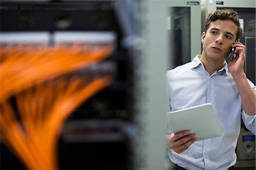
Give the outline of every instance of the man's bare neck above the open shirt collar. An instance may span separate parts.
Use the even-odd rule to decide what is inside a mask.
[[[213,60],[203,55],[200,57],[200,61],[203,63],[205,70],[212,75],[216,70],[220,70],[223,67],[224,60]]]

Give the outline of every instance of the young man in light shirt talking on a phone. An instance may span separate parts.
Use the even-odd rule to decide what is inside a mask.
[[[201,35],[201,55],[167,71],[171,111],[212,103],[222,129],[221,137],[202,141],[189,131],[174,134],[169,129],[168,156],[177,167],[228,169],[236,164],[241,116],[255,135],[256,90],[243,72],[245,45],[236,41],[241,35],[237,12],[217,10],[208,15]],[[225,59],[231,48],[236,48],[236,59],[228,64]]]

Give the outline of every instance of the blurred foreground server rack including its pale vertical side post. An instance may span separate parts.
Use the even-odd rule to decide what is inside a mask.
[[[138,1],[138,9],[136,5],[135,1],[104,0],[1,1],[1,33],[48,31],[54,35],[65,30],[116,35],[115,52],[108,59],[117,66],[114,82],[80,105],[63,126],[60,169],[167,168],[166,3]],[[1,168],[25,168],[2,142]]]

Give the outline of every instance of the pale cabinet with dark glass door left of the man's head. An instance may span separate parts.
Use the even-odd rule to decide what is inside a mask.
[[[201,54],[201,2],[167,1],[171,69]]]

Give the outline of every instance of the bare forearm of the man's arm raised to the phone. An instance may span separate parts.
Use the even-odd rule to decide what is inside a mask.
[[[243,109],[246,114],[251,116],[256,114],[256,95],[250,84],[247,82],[246,74],[234,74],[234,81],[237,84],[238,91],[241,96]]]

